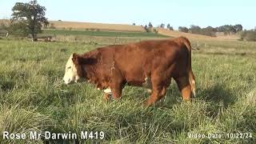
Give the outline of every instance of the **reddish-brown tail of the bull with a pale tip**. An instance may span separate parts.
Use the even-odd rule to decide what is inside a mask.
[[[191,87],[191,91],[194,94],[195,97],[195,79],[194,79],[194,74],[192,71],[192,67],[191,67],[191,50],[192,47],[190,45],[190,41],[187,38],[184,38],[184,44],[186,45],[187,50],[189,51],[189,57],[188,57],[188,62],[187,62],[187,72],[188,72],[188,77],[189,77],[189,82],[190,82],[190,87]]]

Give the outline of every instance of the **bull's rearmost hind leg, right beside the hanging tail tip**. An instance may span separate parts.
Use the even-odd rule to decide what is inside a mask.
[[[182,93],[184,101],[190,101],[191,97],[191,86],[188,77],[174,78],[178,84],[178,90]]]

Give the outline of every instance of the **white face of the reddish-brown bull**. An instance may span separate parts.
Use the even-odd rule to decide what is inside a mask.
[[[78,82],[78,70],[76,69],[74,62],[72,61],[73,54],[71,54],[69,60],[66,62],[64,82],[69,84],[70,82]]]

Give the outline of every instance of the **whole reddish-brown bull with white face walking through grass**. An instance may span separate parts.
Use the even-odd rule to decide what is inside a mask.
[[[187,38],[148,40],[126,45],[104,46],[85,54],[71,54],[66,63],[64,82],[85,79],[98,90],[121,97],[122,88],[144,86],[152,90],[144,103],[154,104],[166,94],[174,78],[183,100],[195,94],[195,79],[191,69],[191,46]]]

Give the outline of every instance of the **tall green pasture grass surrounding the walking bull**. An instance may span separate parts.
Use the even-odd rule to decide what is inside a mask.
[[[123,38],[120,43],[138,39],[144,38]],[[118,42],[111,38],[108,42],[98,38],[94,44],[0,39],[0,133],[93,130],[105,133],[103,140],[93,140],[102,143],[256,142],[255,42],[192,40],[200,48],[192,54],[197,79],[192,103],[182,102],[174,81],[166,97],[150,107],[142,106],[148,98],[142,88],[126,86],[120,101],[102,102],[103,93],[89,83],[63,84],[70,54]],[[234,138],[239,133],[251,133],[252,138]],[[190,138],[190,134],[226,137]],[[0,142],[43,143],[44,139],[1,136]],[[78,140],[67,141],[73,142]]]

